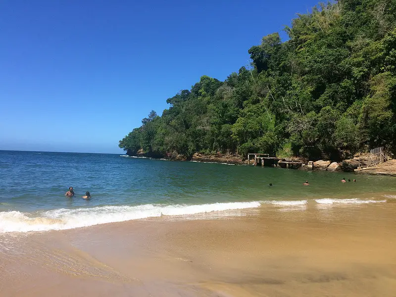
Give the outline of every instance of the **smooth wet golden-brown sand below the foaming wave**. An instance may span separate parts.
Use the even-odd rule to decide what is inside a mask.
[[[0,235],[0,296],[391,297],[396,198]]]

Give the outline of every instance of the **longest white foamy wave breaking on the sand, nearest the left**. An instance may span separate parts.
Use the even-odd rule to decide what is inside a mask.
[[[93,208],[54,209],[37,216],[19,211],[0,212],[0,233],[65,230],[98,224],[122,222],[161,215],[178,216],[259,207],[258,201],[201,205],[98,206]]]

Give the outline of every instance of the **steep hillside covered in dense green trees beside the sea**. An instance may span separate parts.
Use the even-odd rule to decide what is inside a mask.
[[[266,152],[344,158],[396,145],[396,0],[340,0],[300,14],[221,82],[202,76],[119,147],[152,156]]]

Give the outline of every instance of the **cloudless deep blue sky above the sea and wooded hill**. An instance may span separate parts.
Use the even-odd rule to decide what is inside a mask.
[[[150,110],[316,3],[2,0],[0,149],[121,153]]]

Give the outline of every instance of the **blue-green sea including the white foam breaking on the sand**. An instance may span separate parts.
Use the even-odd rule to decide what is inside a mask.
[[[357,182],[343,184],[343,177]],[[302,186],[305,180],[309,187]],[[69,186],[73,198],[64,196]],[[86,191],[92,199],[81,198]],[[324,198],[361,200],[368,194],[380,199],[384,192],[396,193],[395,178],[119,154],[0,151],[0,232],[257,207],[266,201],[290,205]]]

